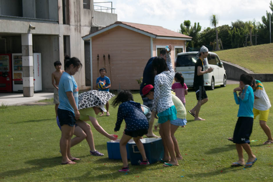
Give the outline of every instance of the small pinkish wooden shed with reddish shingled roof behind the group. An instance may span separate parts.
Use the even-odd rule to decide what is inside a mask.
[[[121,21],[82,37],[90,40],[91,89],[95,88],[96,78],[100,76],[98,69],[105,67],[111,80],[110,89],[139,90],[136,80],[142,77],[148,60],[159,56],[160,50],[171,44],[174,65],[176,54],[185,52],[186,41],[191,38],[161,26]]]

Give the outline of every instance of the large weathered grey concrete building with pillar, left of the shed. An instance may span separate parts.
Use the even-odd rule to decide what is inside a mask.
[[[43,91],[53,91],[53,63],[60,60],[64,69],[64,55],[82,62],[74,77],[79,89],[86,89],[90,46],[81,37],[116,21],[111,11],[94,11],[93,0],[0,0],[0,54],[22,53],[24,96],[33,96],[32,53],[42,55]]]

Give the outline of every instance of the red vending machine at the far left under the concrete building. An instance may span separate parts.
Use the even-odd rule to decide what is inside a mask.
[[[11,54],[0,54],[0,92],[12,92]]]

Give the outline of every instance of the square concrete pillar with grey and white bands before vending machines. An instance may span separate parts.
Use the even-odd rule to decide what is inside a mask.
[[[22,39],[22,66],[23,66],[23,95],[33,97],[33,56],[32,34],[21,34]]]

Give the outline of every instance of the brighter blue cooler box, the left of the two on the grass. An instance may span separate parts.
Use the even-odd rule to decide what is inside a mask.
[[[111,141],[107,142],[107,152],[108,152],[109,159],[121,159],[121,153],[120,153],[120,149],[119,149],[119,141],[120,141],[120,139],[116,139],[116,140],[111,140]],[[131,140],[129,140],[129,142],[134,142],[134,140],[131,139]],[[128,152],[129,151],[128,143],[126,145],[127,159],[130,159],[129,152]]]

